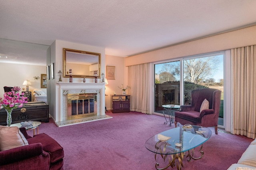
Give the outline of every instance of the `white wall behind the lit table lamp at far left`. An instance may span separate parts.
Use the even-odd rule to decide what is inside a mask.
[[[24,80],[30,80],[29,91],[32,92],[32,101],[34,101],[33,90],[41,89],[46,93],[46,88],[41,88],[41,74],[46,74],[46,66],[27,65],[27,64],[9,64],[0,63],[0,97],[3,98],[4,86],[19,86],[21,91],[26,91],[26,86],[22,85]],[[34,77],[40,77],[34,80]],[[22,88],[25,88],[22,90]]]

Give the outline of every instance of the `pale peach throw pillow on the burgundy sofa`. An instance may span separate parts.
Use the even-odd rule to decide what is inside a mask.
[[[28,145],[28,141],[18,127],[0,125],[0,151],[25,145]]]

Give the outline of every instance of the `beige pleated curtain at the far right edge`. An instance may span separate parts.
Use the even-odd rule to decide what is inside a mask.
[[[256,136],[256,45],[231,49],[233,78],[232,131]]]

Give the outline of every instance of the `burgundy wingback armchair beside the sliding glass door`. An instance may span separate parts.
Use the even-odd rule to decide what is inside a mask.
[[[180,106],[180,111],[175,111],[175,127],[177,122],[182,125],[214,126],[215,133],[218,134],[220,96],[221,91],[217,89],[204,88],[192,90],[191,105]],[[200,113],[200,107],[205,99],[209,102],[209,109],[204,109]]]

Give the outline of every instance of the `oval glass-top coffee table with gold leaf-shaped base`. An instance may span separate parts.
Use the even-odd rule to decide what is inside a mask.
[[[164,160],[168,160],[167,166],[158,168],[159,164],[156,163],[155,167],[158,170],[164,170],[171,166],[176,165],[180,170],[183,167],[183,157],[188,157],[188,161],[192,159],[200,159],[204,155],[202,150],[202,144],[206,142],[212,135],[212,131],[207,127],[195,126],[195,125],[180,125],[174,129],[161,132],[157,135],[150,137],[145,143],[146,149],[154,152],[155,160],[156,156],[161,156]],[[163,135],[163,136],[161,136]],[[170,137],[167,141],[164,137]],[[160,139],[160,140],[159,140]],[[200,156],[194,158],[194,149],[200,146]],[[169,156],[169,159],[166,157]]]

